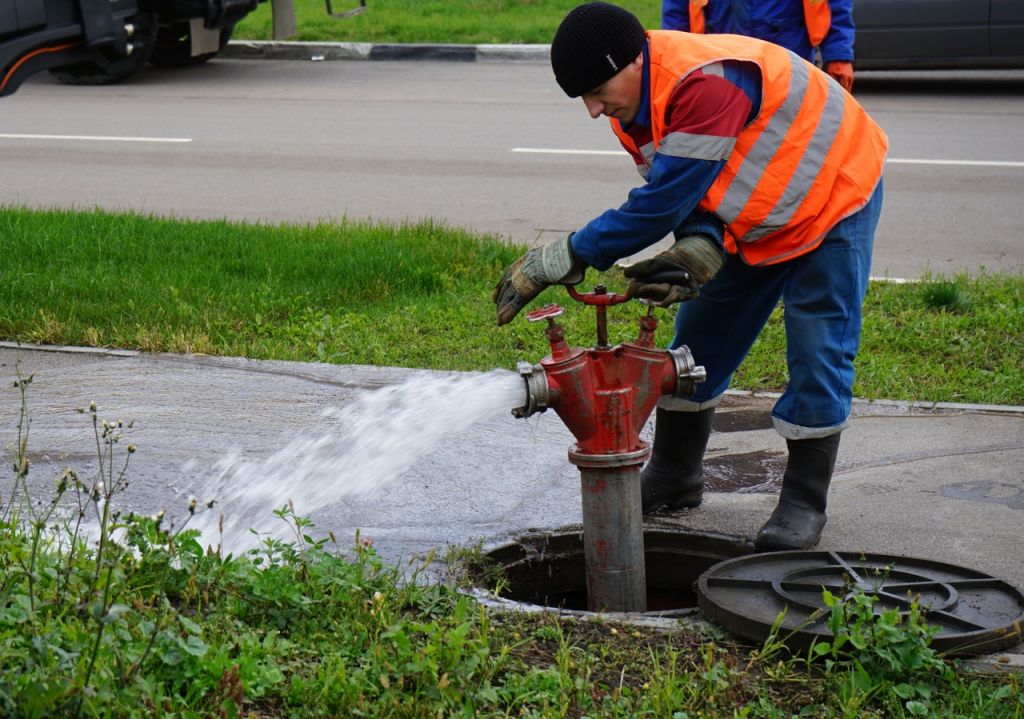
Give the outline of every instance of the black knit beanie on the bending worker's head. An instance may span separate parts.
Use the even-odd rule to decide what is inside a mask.
[[[636,16],[606,2],[569,11],[551,41],[551,69],[569,97],[610,80],[643,50],[644,30]]]

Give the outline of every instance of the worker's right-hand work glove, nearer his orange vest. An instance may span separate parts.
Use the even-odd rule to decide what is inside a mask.
[[[658,307],[691,300],[725,264],[725,253],[703,235],[687,235],[665,252],[631,264],[624,270],[630,279],[631,297],[649,300]]]

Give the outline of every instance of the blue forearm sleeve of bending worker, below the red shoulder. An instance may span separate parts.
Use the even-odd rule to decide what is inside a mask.
[[[655,155],[647,182],[634,188],[622,207],[574,232],[572,251],[590,266],[605,270],[615,260],[650,247],[690,216],[724,166],[724,160]]]

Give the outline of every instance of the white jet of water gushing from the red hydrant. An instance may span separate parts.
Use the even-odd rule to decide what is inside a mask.
[[[397,479],[452,434],[508,414],[525,400],[522,378],[508,370],[414,375],[401,384],[362,391],[325,410],[325,428],[296,437],[267,457],[225,457],[193,491],[212,510],[189,523],[204,544],[238,554],[259,543],[250,532],[292,540],[273,511],[292,503],[299,516]],[[223,538],[219,530],[224,515]]]

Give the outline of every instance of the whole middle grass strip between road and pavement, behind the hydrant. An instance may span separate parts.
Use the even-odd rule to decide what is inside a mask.
[[[517,318],[495,325],[490,291],[523,248],[440,224],[270,226],[130,214],[0,209],[0,338],[436,370],[514,368],[548,346]],[[617,272],[591,272],[622,290]],[[952,288],[952,289],[950,289]],[[593,310],[560,288],[571,344]],[[612,342],[636,305],[609,309]],[[672,333],[658,310],[657,341]],[[1024,278],[872,283],[855,393],[866,398],[1024,405]],[[785,384],[781,309],[733,386]]]

